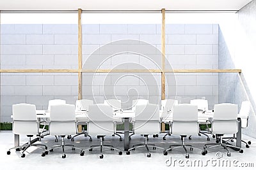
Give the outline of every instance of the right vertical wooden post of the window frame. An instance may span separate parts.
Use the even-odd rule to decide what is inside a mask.
[[[162,72],[161,72],[161,99],[165,99],[165,9],[162,9],[162,32],[161,32],[161,39],[162,39]],[[161,124],[161,132],[165,132],[165,124],[162,122]]]

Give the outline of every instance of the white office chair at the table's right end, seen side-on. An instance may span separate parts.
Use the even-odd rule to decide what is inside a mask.
[[[239,111],[239,117],[241,118],[241,127],[246,128],[248,127],[248,118],[250,113],[250,102],[249,101],[243,101],[241,104],[241,109]],[[222,139],[228,139],[228,141],[233,141],[236,138],[236,134],[234,134],[233,137],[226,137]],[[244,140],[241,140],[243,143],[245,143],[246,148],[250,148],[249,145],[252,144],[251,141],[248,141],[248,143]],[[226,141],[227,142],[227,141]]]

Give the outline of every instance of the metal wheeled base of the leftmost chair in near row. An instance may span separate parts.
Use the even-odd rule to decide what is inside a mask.
[[[25,155],[24,152],[26,152],[26,150],[27,150],[29,147],[31,147],[31,146],[35,146],[36,148],[40,148],[40,149],[42,149],[42,150],[47,150],[47,146],[46,146],[46,145],[34,144],[36,141],[40,141],[40,138],[35,138],[35,139],[33,139],[33,140],[31,141],[31,137],[33,137],[33,136],[28,136],[28,137],[29,137],[28,143],[25,143],[24,145],[21,145],[21,146],[16,146],[16,147],[10,148],[10,149],[8,150],[8,152],[7,152],[7,155],[10,155],[11,150],[15,149],[16,151],[21,151],[21,150],[22,150],[22,152],[20,152],[20,153],[21,153],[21,157],[25,157],[26,155]]]

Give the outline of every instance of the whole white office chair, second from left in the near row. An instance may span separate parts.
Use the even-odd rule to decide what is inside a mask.
[[[54,148],[62,148],[62,158],[66,157],[65,147],[70,147],[72,150],[81,150],[80,155],[84,155],[84,151],[81,148],[77,148],[74,145],[65,144],[65,136],[68,134],[76,134],[76,114],[74,104],[59,104],[51,106],[51,115],[49,123],[49,132],[53,136],[61,136],[61,145],[54,145],[49,150],[42,153],[45,156],[53,151]]]

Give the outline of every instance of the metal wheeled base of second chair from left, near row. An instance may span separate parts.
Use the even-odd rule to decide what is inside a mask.
[[[42,153],[42,157],[44,157],[45,155],[48,155],[49,152],[52,152],[54,148],[62,148],[62,158],[66,158],[66,154],[65,154],[65,147],[68,148],[72,148],[72,150],[81,150],[80,151],[80,155],[83,156],[84,155],[84,150],[81,148],[77,148],[74,145],[67,145],[65,144],[65,140],[64,140],[65,136],[61,136],[61,145],[54,145],[51,148],[49,148],[48,150],[45,150],[45,152]]]

